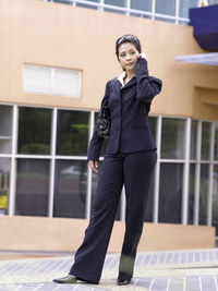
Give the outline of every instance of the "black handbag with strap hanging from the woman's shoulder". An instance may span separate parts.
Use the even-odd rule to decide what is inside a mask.
[[[116,80],[117,77],[113,78],[110,83],[108,98],[111,94],[111,87]],[[106,106],[100,109],[100,112],[98,113],[98,119],[96,121],[96,133],[99,137],[104,137],[104,138],[109,138],[110,124],[111,124],[110,110],[108,107],[108,98],[107,98]]]

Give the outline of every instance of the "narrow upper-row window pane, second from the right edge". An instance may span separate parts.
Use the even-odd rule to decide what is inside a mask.
[[[202,160],[208,160],[210,156],[210,122],[202,122]]]

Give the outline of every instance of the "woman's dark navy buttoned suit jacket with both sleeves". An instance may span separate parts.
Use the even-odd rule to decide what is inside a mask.
[[[138,58],[135,76],[123,87],[119,80],[107,83],[101,101],[101,107],[104,107],[109,97],[111,128],[106,154],[156,149],[148,112],[150,102],[160,93],[161,86],[161,80],[148,75],[147,61],[144,58]],[[88,147],[87,160],[99,159],[104,140],[97,136],[95,129]]]

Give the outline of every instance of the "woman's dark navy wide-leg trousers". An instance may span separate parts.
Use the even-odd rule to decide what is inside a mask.
[[[70,275],[98,283],[108,248],[121,190],[126,196],[125,234],[119,265],[119,279],[130,280],[143,230],[150,175],[156,150],[108,154],[99,171],[90,221],[75,253]]]

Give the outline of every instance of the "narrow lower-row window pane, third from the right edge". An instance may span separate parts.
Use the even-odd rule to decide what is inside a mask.
[[[190,225],[194,223],[194,193],[195,193],[195,163],[190,165],[190,184],[189,184],[189,218]]]

